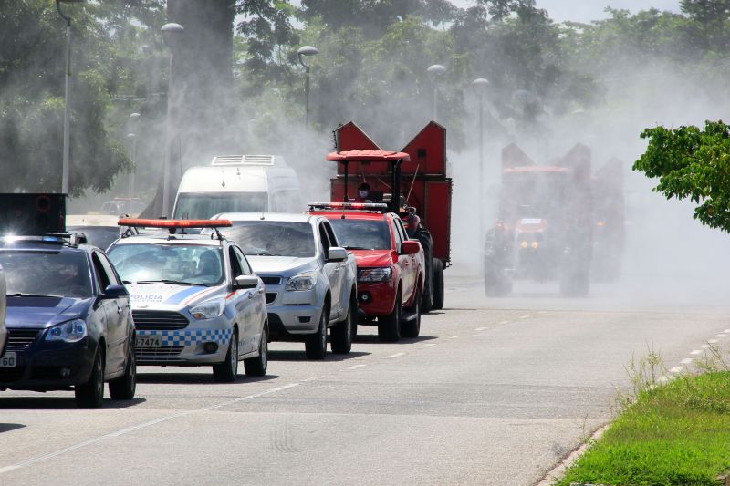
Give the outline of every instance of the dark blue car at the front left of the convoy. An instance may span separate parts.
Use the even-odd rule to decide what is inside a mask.
[[[0,390],[73,388],[79,407],[134,397],[130,295],[107,256],[75,238],[0,242],[7,281],[7,346]]]

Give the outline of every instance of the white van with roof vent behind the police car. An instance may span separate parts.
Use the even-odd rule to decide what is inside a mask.
[[[224,155],[185,171],[174,219],[209,219],[220,212],[301,212],[297,172],[277,155]]]

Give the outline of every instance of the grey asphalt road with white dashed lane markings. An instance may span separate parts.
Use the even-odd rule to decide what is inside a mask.
[[[455,273],[447,287],[420,338],[360,327],[349,356],[323,362],[273,343],[263,379],[140,367],[138,398],[101,410],[0,393],[0,484],[535,484],[610,419],[632,357],[679,366],[730,327],[703,281],[641,277],[586,299],[518,284],[487,300]]]

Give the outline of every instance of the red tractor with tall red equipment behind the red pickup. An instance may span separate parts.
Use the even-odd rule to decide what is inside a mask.
[[[423,248],[425,281],[421,311],[443,308],[443,270],[451,262],[452,180],[446,177],[446,129],[428,123],[401,152],[381,150],[353,122],[335,130],[338,162],[330,181],[335,202],[352,202],[357,187],[370,185],[370,202],[386,202],[401,215],[409,237]]]

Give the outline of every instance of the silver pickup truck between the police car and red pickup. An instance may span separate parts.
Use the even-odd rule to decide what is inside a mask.
[[[327,218],[308,214],[224,213],[266,284],[272,341],[304,341],[309,359],[349,353],[357,332],[357,264],[339,245]]]

